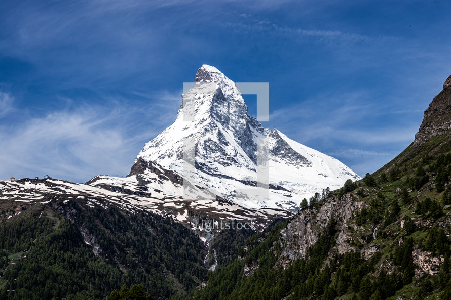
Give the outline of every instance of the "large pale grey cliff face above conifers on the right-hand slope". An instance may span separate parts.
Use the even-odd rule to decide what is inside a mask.
[[[347,221],[365,206],[363,201],[345,194],[340,200],[336,196],[327,198],[319,208],[300,210],[287,228],[281,231],[282,265],[285,267],[297,258],[305,258],[307,248],[326,231],[332,218],[336,222],[335,229],[339,231],[336,251],[343,254],[351,249],[355,250],[348,243],[350,232]]]

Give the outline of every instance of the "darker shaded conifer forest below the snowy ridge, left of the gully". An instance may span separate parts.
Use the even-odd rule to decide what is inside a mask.
[[[69,204],[69,209],[88,209]],[[205,246],[182,224],[146,211],[124,213],[114,206],[89,210],[71,218],[94,235],[105,260],[127,266],[127,285],[140,283],[155,296],[168,298],[175,292],[174,283],[187,292],[206,275]]]

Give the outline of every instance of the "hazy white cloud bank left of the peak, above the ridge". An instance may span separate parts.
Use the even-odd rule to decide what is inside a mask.
[[[0,178],[50,175],[86,182],[101,174],[127,175],[142,145],[175,119],[174,94],[153,98],[160,101],[85,104],[0,126]]]

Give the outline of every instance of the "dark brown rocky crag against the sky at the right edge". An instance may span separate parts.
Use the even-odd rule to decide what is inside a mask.
[[[428,109],[424,112],[420,130],[415,135],[414,148],[426,141],[442,135],[451,129],[451,76],[443,84],[443,90],[435,96]],[[449,133],[447,133],[449,136]]]

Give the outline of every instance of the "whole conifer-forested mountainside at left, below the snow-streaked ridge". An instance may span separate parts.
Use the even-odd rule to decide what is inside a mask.
[[[37,214],[1,224],[0,276],[7,282],[0,299],[99,299],[136,283],[166,299],[192,290],[207,273],[199,237],[168,218],[77,201],[50,209],[57,227]],[[8,254],[23,250],[26,259],[8,263]]]

